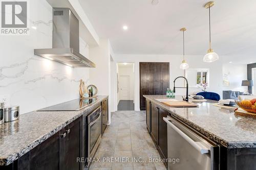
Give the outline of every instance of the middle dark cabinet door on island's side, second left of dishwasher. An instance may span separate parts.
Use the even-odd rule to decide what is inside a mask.
[[[156,144],[158,144],[158,118],[159,107],[153,104],[151,105],[151,136]]]

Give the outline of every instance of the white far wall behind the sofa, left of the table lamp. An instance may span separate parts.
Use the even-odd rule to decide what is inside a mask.
[[[247,87],[241,86],[242,80],[247,80],[246,64],[223,64],[223,77],[229,81],[229,86],[223,86],[223,90],[247,91]]]

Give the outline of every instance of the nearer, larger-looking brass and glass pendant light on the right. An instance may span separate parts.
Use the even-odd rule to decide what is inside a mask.
[[[214,62],[216,60],[219,60],[219,55],[214,53],[214,50],[211,49],[211,39],[210,39],[210,8],[214,6],[214,1],[210,1],[205,4],[205,8],[209,9],[209,50],[207,51],[207,54],[204,56],[203,61],[204,62]]]

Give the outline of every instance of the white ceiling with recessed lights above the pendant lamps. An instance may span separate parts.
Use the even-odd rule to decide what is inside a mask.
[[[204,0],[79,0],[101,38],[109,38],[116,54],[205,55],[208,10]],[[221,56],[255,61],[256,1],[217,0],[211,8],[212,48]],[[123,31],[122,26],[129,29]],[[243,56],[243,57],[241,57]],[[254,62],[253,61],[253,62]],[[256,61],[255,61],[256,62]]]

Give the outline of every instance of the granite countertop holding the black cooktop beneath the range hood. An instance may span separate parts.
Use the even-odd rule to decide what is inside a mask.
[[[106,98],[97,96],[95,103],[79,111],[33,111],[0,125],[0,165],[12,163]]]

